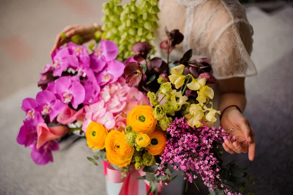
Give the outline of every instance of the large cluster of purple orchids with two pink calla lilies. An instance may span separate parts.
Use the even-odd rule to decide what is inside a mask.
[[[101,40],[89,53],[84,45],[68,43],[52,54],[52,63],[44,67],[36,98],[26,98],[21,109],[26,113],[17,142],[32,150],[36,164],[53,162],[52,151],[58,150],[58,139],[69,131],[67,125],[84,115],[84,105],[99,101],[101,88],[115,83],[125,64],[116,61],[118,47]],[[74,108],[74,109],[72,109]]]

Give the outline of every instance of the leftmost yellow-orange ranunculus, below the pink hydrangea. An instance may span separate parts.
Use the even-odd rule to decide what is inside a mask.
[[[105,138],[108,130],[100,123],[91,122],[85,132],[88,148],[92,150],[102,150],[105,148]]]

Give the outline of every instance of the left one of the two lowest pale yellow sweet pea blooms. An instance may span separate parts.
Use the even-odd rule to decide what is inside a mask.
[[[202,126],[202,119],[204,117],[205,113],[200,104],[191,104],[189,107],[189,114],[185,115],[185,117],[188,119],[188,125],[190,127],[196,127],[199,128]]]

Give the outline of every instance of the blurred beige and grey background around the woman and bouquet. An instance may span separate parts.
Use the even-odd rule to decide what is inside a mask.
[[[54,163],[43,167],[35,165],[30,150],[16,142],[24,118],[21,100],[39,91],[39,73],[50,62],[56,34],[69,24],[99,23],[105,1],[0,0],[0,195],[105,195],[102,163],[89,166],[86,156],[91,152],[84,140],[66,140],[54,152]],[[255,130],[257,152],[253,162],[247,154],[225,158],[236,160],[254,175],[256,195],[290,195],[293,3],[241,2],[254,28],[252,60],[258,75],[246,80],[244,115]]]

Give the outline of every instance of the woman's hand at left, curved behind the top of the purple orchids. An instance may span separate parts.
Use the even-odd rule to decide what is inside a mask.
[[[56,48],[60,47],[68,40],[61,38],[61,33],[65,32],[66,37],[72,37],[73,35],[80,35],[84,43],[94,39],[94,33],[97,31],[97,26],[94,24],[85,24],[85,25],[70,25],[66,26],[60,33],[57,34],[54,46],[51,50],[51,54],[55,51]]]

